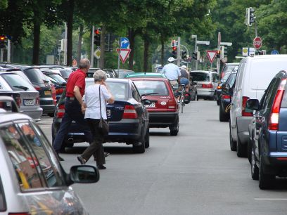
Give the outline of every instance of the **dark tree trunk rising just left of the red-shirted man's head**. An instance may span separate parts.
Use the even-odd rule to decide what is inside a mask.
[[[72,66],[72,20],[74,15],[75,0],[68,1],[67,18],[67,65]]]

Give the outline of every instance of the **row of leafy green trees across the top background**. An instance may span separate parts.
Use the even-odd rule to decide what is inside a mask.
[[[128,37],[132,49],[129,69],[133,69],[136,61],[139,70],[148,71],[151,54],[158,46],[158,62],[165,64],[171,51],[166,46],[172,37],[181,36],[182,43],[193,50],[191,34],[210,41],[206,48],[214,49],[217,32],[221,32],[222,41],[233,43],[228,57],[229,61],[234,60],[242,47],[252,46],[255,37],[254,25],[244,24],[247,7],[256,10],[262,49],[286,52],[287,2],[284,0],[0,0],[0,34],[11,36],[15,50],[23,56],[27,56],[27,48],[32,50],[32,62],[25,63],[39,64],[44,63],[42,53],[49,49],[51,53],[51,47],[57,46],[66,22],[67,63],[72,65],[73,56],[79,59],[81,50],[90,51],[91,26],[101,26],[101,47],[106,32]],[[73,47],[77,54],[73,55]],[[115,65],[115,56],[101,51],[100,67]]]

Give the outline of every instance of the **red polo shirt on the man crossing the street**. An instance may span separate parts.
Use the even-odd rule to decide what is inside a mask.
[[[79,87],[79,92],[81,93],[81,96],[84,96],[84,88],[86,86],[86,82],[84,81],[85,77],[86,73],[84,73],[80,69],[77,69],[75,72],[72,72],[66,85],[66,96],[75,97],[75,86]]]

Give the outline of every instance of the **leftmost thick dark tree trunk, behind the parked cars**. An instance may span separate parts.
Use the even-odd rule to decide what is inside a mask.
[[[37,19],[37,13],[34,11],[34,29],[33,29],[33,57],[32,57],[32,64],[39,65],[39,53],[40,53],[40,28],[41,24]]]

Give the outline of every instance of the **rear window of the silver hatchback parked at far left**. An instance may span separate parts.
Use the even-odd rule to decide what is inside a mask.
[[[2,74],[1,76],[11,86],[13,91],[35,91],[34,87],[18,74]]]

